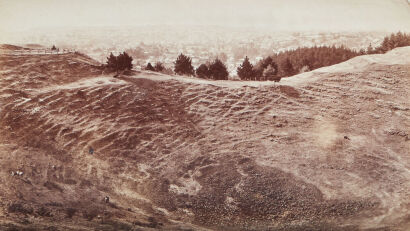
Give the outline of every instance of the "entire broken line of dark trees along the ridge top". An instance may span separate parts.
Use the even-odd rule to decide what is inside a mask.
[[[237,74],[241,80],[270,80],[278,82],[282,77],[331,66],[359,55],[386,53],[396,47],[403,46],[410,46],[410,34],[398,32],[386,36],[380,46],[373,47],[369,44],[366,50],[361,49],[360,51],[349,49],[343,45],[338,47],[301,47],[272,54],[255,65],[250,63],[248,57],[245,57],[243,63],[237,68]],[[107,67],[113,70],[131,69],[131,62],[132,58],[126,52],[119,56],[111,54],[108,57]],[[192,66],[191,58],[184,54],[180,54],[174,62],[174,70],[165,68],[160,62],[157,62],[155,66],[148,63],[145,70],[166,74],[174,72],[178,75],[197,76],[214,80],[227,80],[229,76],[226,65],[218,58],[211,62],[203,63],[195,69]]]

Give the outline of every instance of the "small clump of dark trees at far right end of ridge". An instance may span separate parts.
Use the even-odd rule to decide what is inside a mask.
[[[362,49],[361,54],[383,54],[397,47],[410,46],[410,34],[397,32],[392,33],[390,36],[386,36],[380,46],[373,48],[372,44],[369,44],[367,50]]]

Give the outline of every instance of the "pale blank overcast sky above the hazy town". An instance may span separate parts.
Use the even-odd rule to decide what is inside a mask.
[[[147,24],[410,31],[410,4],[407,0],[0,0],[0,33]]]

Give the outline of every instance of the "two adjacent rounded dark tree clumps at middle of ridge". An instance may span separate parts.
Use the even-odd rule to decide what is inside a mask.
[[[178,75],[196,76],[205,79],[227,80],[229,73],[225,64],[218,58],[211,63],[201,64],[196,70],[192,66],[192,59],[180,54],[175,61],[174,72]]]

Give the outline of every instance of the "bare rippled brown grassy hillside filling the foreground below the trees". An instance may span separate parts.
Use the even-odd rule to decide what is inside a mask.
[[[280,85],[1,55],[0,227],[406,230],[409,55]]]

